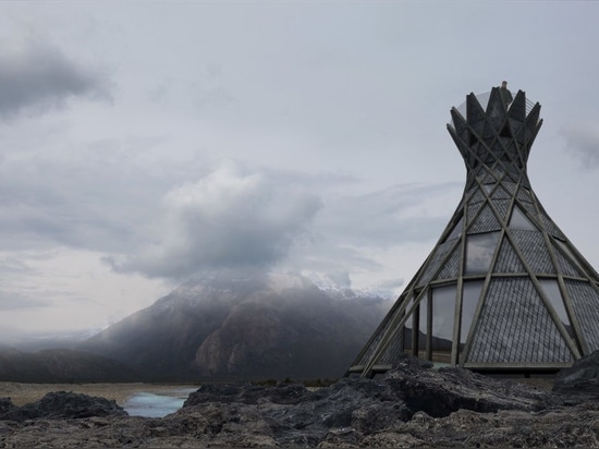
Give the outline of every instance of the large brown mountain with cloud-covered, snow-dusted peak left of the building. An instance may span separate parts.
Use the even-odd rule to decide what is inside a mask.
[[[196,278],[80,349],[146,380],[337,378],[390,302],[291,275]]]

